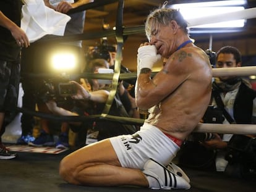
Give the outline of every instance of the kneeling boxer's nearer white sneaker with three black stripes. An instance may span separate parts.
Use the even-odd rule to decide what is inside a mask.
[[[176,167],[174,168],[174,170]],[[153,177],[158,181],[158,186],[151,186],[151,189],[184,189],[188,190],[190,188],[189,182],[182,176],[177,175],[175,171],[168,170],[164,165],[156,162],[153,159],[149,159],[144,167],[143,173],[147,176]]]

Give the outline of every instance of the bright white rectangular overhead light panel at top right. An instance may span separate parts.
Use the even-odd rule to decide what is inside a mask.
[[[245,1],[213,1],[213,2],[196,2],[186,4],[174,4],[171,7],[179,9],[184,19],[199,19],[207,16],[218,17],[220,14],[244,10]],[[239,6],[237,6],[239,5]],[[227,28],[227,27],[244,27],[245,20],[231,20],[228,22],[218,22],[206,25],[197,25],[193,28]]]

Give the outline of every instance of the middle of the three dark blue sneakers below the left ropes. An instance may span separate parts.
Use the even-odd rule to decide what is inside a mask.
[[[35,138],[34,141],[31,141],[28,143],[28,145],[30,146],[37,146],[37,147],[41,147],[41,146],[54,146],[54,138],[53,135],[49,135],[45,132],[41,132],[41,134]]]

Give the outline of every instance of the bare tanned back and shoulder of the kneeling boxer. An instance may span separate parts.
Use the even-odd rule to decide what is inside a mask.
[[[192,45],[175,52],[153,78],[166,82],[164,90],[158,90],[166,97],[150,109],[146,122],[184,140],[210,102],[211,75],[210,62],[202,49]]]

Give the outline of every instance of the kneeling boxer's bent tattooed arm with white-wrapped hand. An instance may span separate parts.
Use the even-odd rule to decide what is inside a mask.
[[[137,107],[145,110],[158,104],[184,83],[193,72],[194,69],[191,66],[198,62],[198,58],[191,56],[193,55],[190,54],[192,49],[189,48],[176,51],[169,57],[163,69],[151,79],[151,68],[155,62],[159,61],[158,55],[156,52],[155,55],[152,54],[147,49],[145,51],[150,54],[140,54],[140,49],[138,50],[139,75],[136,82],[135,98]]]

